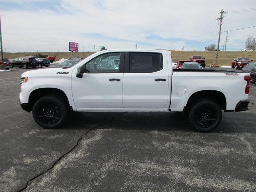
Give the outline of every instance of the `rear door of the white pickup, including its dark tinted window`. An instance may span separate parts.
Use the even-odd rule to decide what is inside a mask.
[[[167,56],[164,52],[126,52],[123,83],[125,109],[168,108],[168,85]]]

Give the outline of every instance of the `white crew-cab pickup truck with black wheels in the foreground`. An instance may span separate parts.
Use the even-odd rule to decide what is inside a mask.
[[[220,124],[222,110],[248,110],[249,88],[249,73],[172,69],[169,51],[104,50],[70,68],[24,72],[20,104],[44,128],[62,125],[70,110],[177,111],[208,132]]]

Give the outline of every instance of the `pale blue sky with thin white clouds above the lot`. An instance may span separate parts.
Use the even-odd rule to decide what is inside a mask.
[[[3,50],[65,52],[153,48],[203,51],[227,30],[256,26],[256,0],[0,0]],[[228,33],[228,51],[244,49],[256,27]]]

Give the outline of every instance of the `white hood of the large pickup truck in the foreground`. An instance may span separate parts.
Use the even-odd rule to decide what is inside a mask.
[[[71,74],[73,68],[43,68],[24,72],[22,77],[34,77],[34,76],[55,76],[57,72],[68,72]]]

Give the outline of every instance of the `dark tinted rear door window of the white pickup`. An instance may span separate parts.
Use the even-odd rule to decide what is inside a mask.
[[[162,68],[162,54],[130,52],[130,73],[152,73]]]

